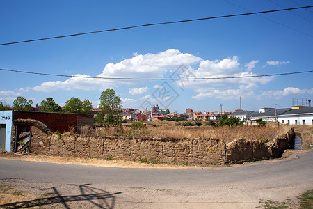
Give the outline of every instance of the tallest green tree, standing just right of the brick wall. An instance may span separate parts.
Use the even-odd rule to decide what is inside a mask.
[[[99,107],[106,116],[104,122],[114,124],[116,121],[115,118],[118,118],[116,116],[120,114],[122,100],[120,100],[120,96],[116,95],[113,89],[108,88],[101,93]]]

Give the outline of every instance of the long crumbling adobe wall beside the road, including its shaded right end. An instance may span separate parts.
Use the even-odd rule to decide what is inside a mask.
[[[37,141],[43,141],[42,139]],[[132,137],[83,137],[53,134],[49,154],[77,157],[102,157],[118,160],[147,159],[147,162],[186,164],[234,164],[281,157],[284,150],[294,145],[294,130],[276,137],[271,143],[234,140],[225,144],[218,139],[172,139]],[[33,142],[32,142],[33,143]],[[40,142],[38,142],[40,143]],[[33,148],[33,145],[32,145]],[[47,150],[48,146],[42,149]],[[32,149],[33,153],[47,153]]]

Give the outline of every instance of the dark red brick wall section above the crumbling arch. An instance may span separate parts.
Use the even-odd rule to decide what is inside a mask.
[[[38,111],[13,111],[13,120],[16,119],[35,119],[38,120],[52,132],[61,132],[68,130],[68,127],[75,125],[77,127],[77,118],[88,118],[85,120],[90,121],[90,125],[93,125],[93,115],[91,114],[64,114],[64,113],[47,113]]]

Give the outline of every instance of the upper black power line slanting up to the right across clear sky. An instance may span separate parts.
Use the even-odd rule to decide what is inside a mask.
[[[287,10],[297,10],[297,9],[312,8],[312,7],[313,6],[301,6],[301,7],[295,7],[295,8],[284,8],[284,9],[280,9],[280,10],[266,10],[266,11],[254,12],[254,13],[250,12],[250,13],[241,13],[241,14],[235,14],[235,15],[221,15],[221,16],[216,16],[216,17],[204,17],[204,18],[197,18],[197,19],[190,19],[190,20],[178,20],[178,21],[172,21],[172,22],[141,24],[141,25],[127,26],[127,27],[122,27],[122,28],[117,28],[117,29],[107,29],[107,30],[102,30],[102,31],[91,31],[91,32],[86,32],[86,33],[74,33],[74,34],[64,35],[64,36],[54,36],[54,37],[49,37],[49,38],[22,40],[22,41],[17,41],[17,42],[6,42],[6,43],[1,43],[0,46],[14,45],[14,44],[19,44],[19,43],[23,43],[23,42],[34,42],[34,41],[39,41],[39,40],[49,40],[49,39],[55,39],[55,38],[82,36],[82,35],[88,35],[88,34],[92,34],[92,33],[104,33],[104,32],[109,32],[109,31],[120,31],[120,30],[134,29],[134,28],[145,27],[145,26],[155,26],[155,25],[161,25],[161,24],[176,24],[176,23],[193,22],[193,21],[200,21],[200,20],[212,20],[212,19],[225,18],[225,17],[238,17],[238,16],[243,16],[243,15],[257,15],[257,14],[263,14],[263,13],[275,13],[275,12],[282,12],[282,11],[287,11]]]

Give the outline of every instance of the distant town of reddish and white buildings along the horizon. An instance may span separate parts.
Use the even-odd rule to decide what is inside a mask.
[[[245,111],[243,109],[236,109],[234,111],[193,111],[191,108],[186,108],[186,112],[177,113],[170,112],[170,109],[160,109],[158,104],[153,104],[151,109],[135,109],[122,108],[120,116],[124,123],[131,123],[132,121],[220,121],[223,114],[228,117],[239,118],[245,125],[258,124],[257,121],[273,121],[282,124],[290,125],[313,125],[313,107],[311,107],[311,100],[301,105],[296,104],[289,108],[261,108],[254,111]],[[61,111],[66,112],[63,107]],[[8,107],[8,110],[12,110]],[[42,111],[40,105],[30,107],[29,111]],[[91,108],[90,114],[97,118],[98,114],[102,112],[100,108]]]

